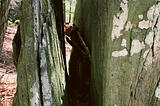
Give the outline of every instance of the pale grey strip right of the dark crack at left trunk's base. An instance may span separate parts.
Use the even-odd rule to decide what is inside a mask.
[[[41,76],[44,106],[51,106],[52,104],[51,85],[48,79],[47,70],[45,70],[43,76]]]

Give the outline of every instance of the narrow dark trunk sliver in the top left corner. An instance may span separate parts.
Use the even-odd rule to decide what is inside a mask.
[[[7,28],[9,4],[11,0],[1,0],[0,11],[0,54],[3,47],[4,36]]]

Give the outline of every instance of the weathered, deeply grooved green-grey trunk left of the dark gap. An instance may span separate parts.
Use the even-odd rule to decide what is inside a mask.
[[[61,52],[63,41],[58,39],[58,36],[63,36],[63,24],[56,27],[57,22],[63,23],[63,16],[57,15],[63,11],[55,10],[55,5],[62,6],[59,3],[49,0],[22,1],[21,46],[13,106],[68,106]]]

